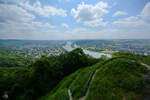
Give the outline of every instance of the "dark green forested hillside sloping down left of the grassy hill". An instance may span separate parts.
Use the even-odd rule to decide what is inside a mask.
[[[0,67],[0,97],[7,92],[11,100],[36,100],[63,77],[98,61],[78,48],[59,56],[42,56],[26,67]]]

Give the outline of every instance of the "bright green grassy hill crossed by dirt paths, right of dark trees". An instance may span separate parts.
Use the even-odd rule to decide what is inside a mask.
[[[38,100],[145,100],[149,91],[143,74],[148,70],[140,64],[141,57],[114,56],[68,75]]]

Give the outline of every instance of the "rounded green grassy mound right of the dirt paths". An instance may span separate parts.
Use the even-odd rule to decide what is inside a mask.
[[[131,60],[108,62],[96,74],[86,100],[140,100],[145,86],[144,72],[145,67]]]

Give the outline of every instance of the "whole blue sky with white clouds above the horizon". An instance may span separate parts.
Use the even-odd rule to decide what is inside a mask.
[[[150,39],[150,0],[0,0],[0,39]]]

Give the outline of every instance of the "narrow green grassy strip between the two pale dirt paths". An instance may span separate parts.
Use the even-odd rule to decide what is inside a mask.
[[[100,67],[102,62],[97,63],[94,66],[84,68],[78,75],[77,79],[72,82],[71,84],[71,93],[74,100],[79,99],[80,97],[84,96],[90,80],[97,68]]]

